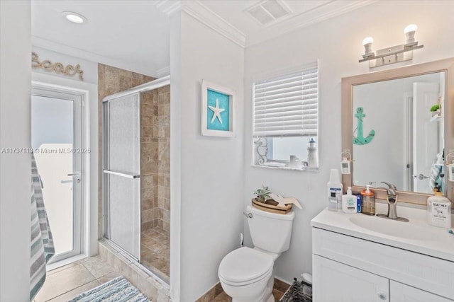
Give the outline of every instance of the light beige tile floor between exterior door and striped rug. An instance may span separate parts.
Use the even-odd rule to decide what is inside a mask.
[[[93,289],[120,274],[101,260],[90,257],[48,272],[43,288],[35,297],[35,302],[63,302],[84,291]]]

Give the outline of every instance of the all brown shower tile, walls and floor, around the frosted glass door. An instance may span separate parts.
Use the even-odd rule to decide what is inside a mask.
[[[102,99],[153,81],[132,71],[98,64],[99,158],[102,156]],[[170,86],[142,93],[140,103],[141,259],[169,281],[170,231]],[[101,233],[101,161],[99,165],[99,238]],[[155,232],[153,231],[155,230]]]

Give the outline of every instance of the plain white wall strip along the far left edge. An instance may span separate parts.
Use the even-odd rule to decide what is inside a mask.
[[[0,149],[31,143],[30,26],[29,1],[0,1]],[[0,301],[30,301],[31,156],[0,167]]]

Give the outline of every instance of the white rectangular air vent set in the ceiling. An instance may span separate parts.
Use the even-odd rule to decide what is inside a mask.
[[[266,0],[247,8],[250,16],[261,25],[270,25],[292,13],[292,10],[282,0]]]

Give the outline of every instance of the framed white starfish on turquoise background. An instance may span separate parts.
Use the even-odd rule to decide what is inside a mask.
[[[201,81],[201,135],[235,136],[235,91]]]

